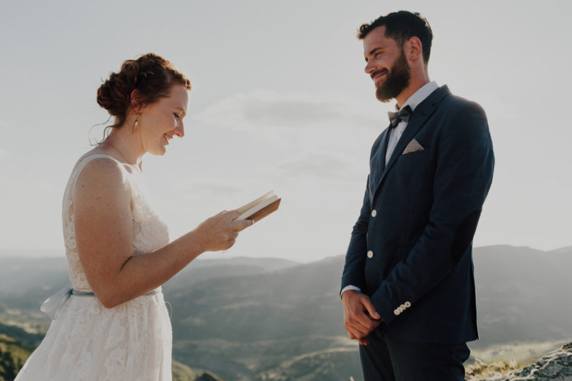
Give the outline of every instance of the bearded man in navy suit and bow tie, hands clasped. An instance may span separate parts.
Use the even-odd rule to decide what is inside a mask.
[[[478,338],[472,238],[491,185],[487,117],[429,80],[419,13],[359,28],[381,102],[397,101],[371,148],[342,274],[344,324],[366,380],[464,380]]]

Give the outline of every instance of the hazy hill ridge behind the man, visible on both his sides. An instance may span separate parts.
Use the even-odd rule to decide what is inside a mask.
[[[484,344],[572,336],[572,303],[564,302],[572,293],[567,274],[572,248],[543,253],[489,246],[475,249],[474,260]],[[192,288],[181,278],[179,284],[165,287],[165,295],[174,306],[174,322],[185,325],[182,337],[189,339],[252,341],[268,337],[268,332],[273,339],[292,337],[292,332],[335,335],[342,329],[342,266],[340,255],[272,273],[208,279]],[[233,332],[237,322],[248,335]],[[275,332],[275,325],[285,322]]]

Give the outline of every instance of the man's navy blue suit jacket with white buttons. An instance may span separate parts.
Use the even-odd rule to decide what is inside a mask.
[[[423,150],[404,154],[414,138]],[[386,165],[387,140],[388,130],[371,149],[342,289],[362,289],[378,329],[398,339],[475,340],[472,238],[494,167],[487,116],[443,86],[417,106]]]

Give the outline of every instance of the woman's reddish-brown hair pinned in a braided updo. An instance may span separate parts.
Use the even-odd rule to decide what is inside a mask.
[[[99,89],[97,104],[115,117],[115,123],[107,126],[119,128],[125,122],[131,108],[131,92],[136,92],[136,106],[153,104],[162,97],[168,97],[174,83],[191,90],[191,81],[175,70],[172,64],[157,54],[148,53],[136,60],[128,59],[121,65],[119,73],[112,73]]]

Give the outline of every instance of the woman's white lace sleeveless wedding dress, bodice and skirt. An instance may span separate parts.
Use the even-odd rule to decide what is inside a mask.
[[[64,193],[64,238],[73,289],[91,291],[78,257],[72,191],[90,155],[78,161]],[[138,169],[117,162],[131,186],[133,253],[148,253],[169,242],[167,226],[145,197]],[[71,296],[52,320],[42,344],[32,353],[17,381],[27,380],[172,380],[172,329],[160,288],[114,308],[95,296]]]

